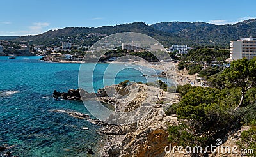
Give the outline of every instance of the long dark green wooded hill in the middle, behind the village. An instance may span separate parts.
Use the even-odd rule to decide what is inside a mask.
[[[121,24],[116,26],[102,26],[97,28],[67,27],[64,29],[58,29],[56,31],[47,31],[36,36],[22,36],[13,41],[29,41],[29,43],[39,45],[58,45],[61,41],[72,40],[72,43],[79,44],[81,43],[81,40],[83,40],[83,45],[92,45],[95,41],[99,40],[99,36],[87,37],[87,34],[101,33],[110,35],[128,31],[147,34],[148,36],[159,40],[163,45],[172,45],[173,43],[182,44],[184,42],[189,42],[189,40],[180,38],[177,36],[177,34],[159,31],[151,26],[148,26],[144,22],[134,22],[132,24]],[[90,40],[88,40],[88,38],[90,38]],[[76,39],[79,40],[75,41]]]

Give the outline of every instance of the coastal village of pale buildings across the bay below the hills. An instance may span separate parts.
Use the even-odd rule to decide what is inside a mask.
[[[99,35],[100,33],[96,33]],[[88,36],[93,36],[95,34],[89,34]],[[104,36],[100,34],[100,36]],[[43,46],[43,45],[29,45],[26,41],[22,41],[19,45],[10,45],[9,41],[0,40],[0,56],[45,56],[45,61],[82,61],[83,56],[86,52],[90,51],[90,46],[83,45],[72,45],[71,42],[61,42],[61,46]],[[102,47],[100,47],[102,48]],[[99,49],[100,49],[99,48]],[[187,54],[188,50],[193,49],[187,45],[172,45],[171,47],[163,47],[159,43],[151,45],[147,50],[141,49],[140,43],[122,43],[122,50],[128,50],[129,52],[144,52],[144,51],[164,51],[164,52],[176,52],[179,54]],[[88,51],[89,50],[89,51]],[[115,49],[117,50],[117,49]],[[115,57],[106,56],[108,61],[113,61]]]

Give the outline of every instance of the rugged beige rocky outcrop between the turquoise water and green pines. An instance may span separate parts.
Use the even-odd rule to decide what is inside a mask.
[[[63,94],[57,91],[54,91],[54,93],[56,96],[62,96]],[[88,94],[86,91],[81,90],[72,91],[67,93],[67,95],[69,94],[67,98],[76,96],[77,93],[82,95],[81,98],[83,98],[83,95]],[[129,84],[125,87],[119,85],[106,86],[94,94],[100,97],[100,101],[113,103],[116,107],[116,112],[131,112],[139,108],[143,103],[147,103],[148,106],[142,108],[150,108],[150,110],[145,110],[147,113],[145,117],[136,122],[132,121],[132,124],[116,126],[102,123],[106,127],[101,132],[109,137],[106,146],[104,146],[104,153],[102,153],[104,155],[102,156],[166,156],[164,148],[168,146],[168,124],[177,125],[179,121],[177,121],[177,117],[164,114],[162,108],[167,103],[157,104],[156,101],[161,100],[172,103],[175,95],[170,96],[170,94],[173,93],[165,96],[167,93],[157,87],[145,84]],[[84,114],[67,113],[73,117],[98,123],[97,120],[90,119]],[[140,113],[141,110],[134,112],[134,118],[139,117],[140,115],[137,114]],[[112,117],[112,119],[122,121],[127,117]],[[113,139],[116,139],[115,142],[113,142]]]

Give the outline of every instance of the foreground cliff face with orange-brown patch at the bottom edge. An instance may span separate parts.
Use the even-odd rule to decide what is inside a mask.
[[[136,129],[127,133],[122,141],[108,149],[109,156],[165,156],[168,142],[168,124],[177,125],[176,117],[166,116],[155,108]]]

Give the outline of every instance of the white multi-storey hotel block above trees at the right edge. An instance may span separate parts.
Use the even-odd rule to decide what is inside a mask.
[[[230,41],[230,60],[253,59],[256,56],[256,38],[241,38],[237,41]]]

